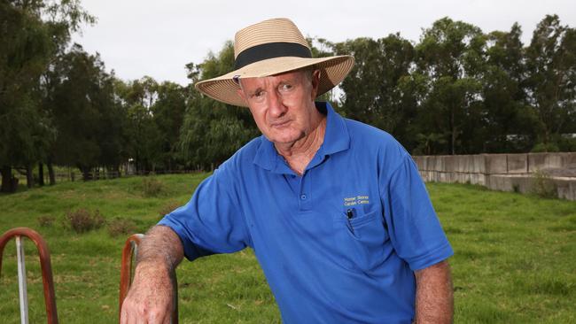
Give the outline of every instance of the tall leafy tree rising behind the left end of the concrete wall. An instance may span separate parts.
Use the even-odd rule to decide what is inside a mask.
[[[416,123],[419,137],[425,139],[419,150],[434,138],[439,140],[432,145],[432,153],[479,150],[466,142],[480,126],[471,121],[479,120],[481,111],[479,74],[484,67],[485,42],[479,27],[448,18],[424,30],[416,45],[416,71],[411,75],[415,82],[411,88],[424,91],[418,95],[422,101]]]

